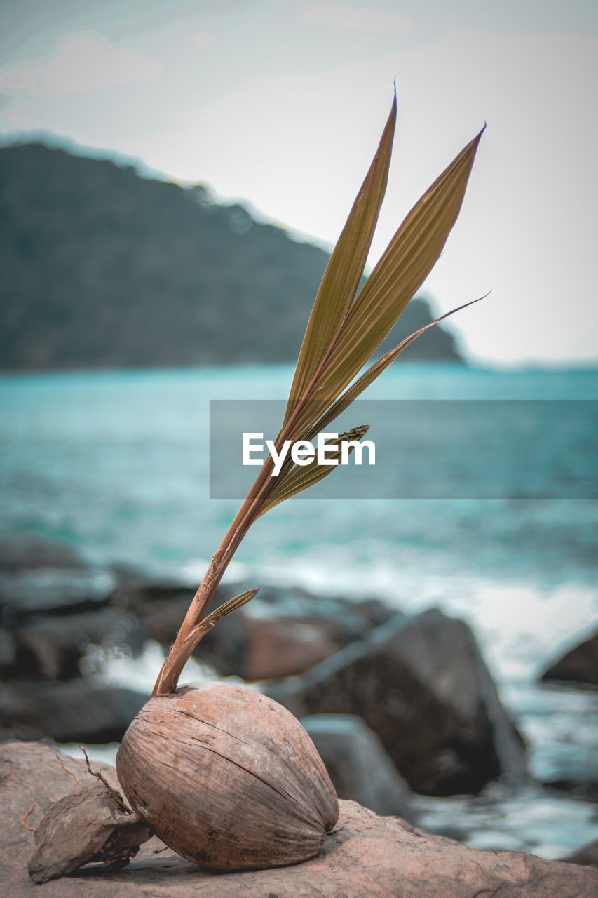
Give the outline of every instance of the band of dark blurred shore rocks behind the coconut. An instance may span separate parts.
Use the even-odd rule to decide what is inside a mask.
[[[118,742],[147,695],[105,682],[98,658],[139,656],[148,639],[168,647],[190,594],[171,572],[106,567],[65,543],[0,535],[0,740]],[[588,646],[565,679],[590,671],[591,684]],[[299,717],[339,797],[375,814],[417,823],[417,796],[531,781],[523,736],[474,634],[441,611],[406,615],[374,597],[267,586],[198,656],[214,676],[254,683]],[[354,813],[363,823],[363,808]]]

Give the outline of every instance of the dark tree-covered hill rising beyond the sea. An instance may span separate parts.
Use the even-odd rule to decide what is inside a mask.
[[[293,361],[328,258],[203,185],[0,148],[4,370]],[[427,321],[414,300],[393,343]],[[462,360],[440,327],[405,356]]]

